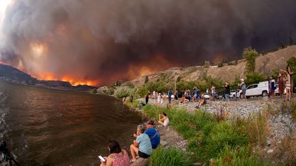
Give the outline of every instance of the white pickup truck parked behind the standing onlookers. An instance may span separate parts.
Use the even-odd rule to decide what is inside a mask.
[[[239,94],[240,94],[240,98],[243,98],[242,90],[240,90]],[[267,96],[268,94],[269,94],[269,82],[268,81],[249,85],[247,87],[247,91],[246,91],[247,98],[249,98],[251,96]]]

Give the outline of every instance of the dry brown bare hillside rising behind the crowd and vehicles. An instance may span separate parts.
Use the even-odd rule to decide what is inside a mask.
[[[278,51],[267,53],[266,55],[259,55],[256,58],[256,71],[264,75],[269,75],[273,70],[285,69],[286,61],[290,58],[296,56],[296,46],[288,46],[285,49],[280,49]],[[156,72],[154,74],[149,74],[148,79],[151,81],[158,81],[162,79],[164,81],[175,81],[178,77],[184,81],[197,80],[203,72],[206,72],[209,76],[216,79],[221,79],[221,81],[232,82],[236,77],[244,78],[245,75],[245,65],[246,61],[244,59],[239,60],[238,64],[232,66],[223,66],[219,68],[218,66],[190,66],[187,68],[175,67],[169,68],[162,72]],[[145,77],[138,77],[132,81],[127,81],[123,83],[124,85],[134,85],[134,87],[142,87],[145,83]]]

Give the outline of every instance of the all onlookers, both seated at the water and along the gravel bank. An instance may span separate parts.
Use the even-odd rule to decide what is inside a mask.
[[[280,94],[280,98],[283,98],[284,92],[286,92],[286,98],[284,100],[291,100],[291,96],[293,95],[293,71],[290,67],[286,70],[280,70],[279,76],[275,80],[273,77],[269,77],[268,86],[269,86],[269,98],[272,100],[275,98],[275,89],[277,89],[278,84],[278,93]],[[242,100],[246,100],[246,92],[247,85],[244,79],[240,79],[240,83],[238,83],[238,87],[241,89],[241,98]],[[230,83],[225,82],[223,85],[224,88],[224,97],[226,101],[230,101]],[[284,90],[286,88],[286,90]],[[206,104],[207,100],[215,100],[217,96],[217,88],[212,85],[210,89],[206,89],[206,94],[199,94],[200,90],[197,87],[193,87],[192,90],[186,89],[184,94],[182,94],[182,98],[180,103],[187,103],[192,101],[197,101],[197,108],[201,107],[201,105]],[[178,100],[178,92],[175,90],[175,93],[167,92],[168,103],[171,104],[171,100]],[[208,95],[208,96],[207,96]],[[149,98],[152,98],[153,101],[156,100],[158,104],[161,105],[164,102],[163,98],[164,94],[158,93],[155,90],[150,92],[145,96],[146,105],[149,102]],[[292,96],[293,97],[293,96]],[[130,102],[133,101],[133,96],[129,96]],[[144,103],[141,103],[145,105]],[[123,98],[123,105],[125,105],[125,98]],[[158,125],[160,126],[168,126],[169,125],[169,117],[167,113],[162,113],[159,115]],[[154,126],[154,120],[150,120],[147,125],[138,125],[136,129],[136,133],[133,135],[134,141],[130,145],[130,152],[132,159],[128,155],[126,150],[121,149],[119,143],[116,141],[109,141],[108,150],[110,155],[105,157],[106,161],[101,160],[101,165],[130,165],[136,161],[136,158],[149,158],[153,149],[156,149],[160,144],[160,133],[157,128]]]

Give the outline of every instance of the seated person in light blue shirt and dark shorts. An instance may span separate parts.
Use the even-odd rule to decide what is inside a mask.
[[[138,125],[136,140],[130,146],[130,151],[132,154],[131,162],[134,163],[136,161],[136,155],[140,158],[148,158],[152,152],[151,141],[149,136],[145,133],[146,127],[144,125]]]

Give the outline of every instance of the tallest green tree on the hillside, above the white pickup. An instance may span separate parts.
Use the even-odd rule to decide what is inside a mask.
[[[243,58],[247,60],[247,73],[255,71],[256,57],[258,57],[258,52],[255,49],[252,49],[250,46],[244,49]]]

